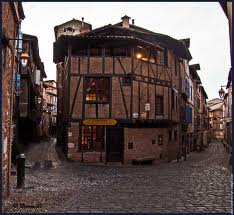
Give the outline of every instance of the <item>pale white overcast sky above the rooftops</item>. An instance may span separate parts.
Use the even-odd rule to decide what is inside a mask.
[[[220,86],[227,83],[231,67],[228,20],[217,2],[23,2],[23,8],[22,31],[38,37],[47,79],[56,80],[54,26],[84,17],[95,29],[128,15],[137,26],[175,39],[190,38],[190,64],[200,64],[198,74],[209,99],[218,97]]]

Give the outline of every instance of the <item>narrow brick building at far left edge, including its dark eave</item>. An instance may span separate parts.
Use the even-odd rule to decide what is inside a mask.
[[[13,138],[14,74],[17,68],[15,49],[24,19],[22,4],[3,2],[2,7],[2,188],[3,200],[9,196],[11,144]]]

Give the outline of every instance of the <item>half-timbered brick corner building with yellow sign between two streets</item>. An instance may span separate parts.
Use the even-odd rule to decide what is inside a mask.
[[[83,19],[55,27],[57,133],[71,160],[176,159],[190,52],[129,20],[94,30]]]

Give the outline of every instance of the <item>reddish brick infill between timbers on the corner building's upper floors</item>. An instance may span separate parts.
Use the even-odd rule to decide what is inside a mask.
[[[170,62],[169,67],[173,68],[171,71],[163,66],[158,66],[158,68],[154,66],[150,66],[152,70],[148,72],[148,64],[146,62],[142,62],[143,73],[146,77],[153,78],[153,72],[156,73],[158,71],[158,75],[160,76],[161,80],[169,81],[170,75],[172,75],[172,83],[174,88],[178,90],[179,86],[179,72],[175,75],[175,55],[172,52],[169,52],[170,55]],[[113,66],[113,61],[115,62],[115,66]],[[121,62],[123,68],[125,69],[126,73],[131,72],[131,58],[121,58]],[[134,60],[134,65],[136,67],[136,74],[139,74],[140,71],[140,64],[137,67],[139,60]],[[79,66],[80,64],[80,66]],[[71,58],[71,73],[77,74],[78,76],[71,76],[70,82],[70,110],[72,108],[72,104],[74,103],[73,109],[73,117],[82,118],[82,101],[83,101],[83,77],[81,77],[81,81],[78,87],[78,93],[74,102],[75,93],[77,89],[77,85],[79,82],[79,74],[87,74],[88,71],[88,58],[87,57],[77,57],[72,56]],[[101,57],[90,57],[90,71],[89,74],[102,74],[102,58]],[[124,74],[122,66],[119,63],[119,60],[111,57],[105,58],[105,68],[104,74]],[[171,73],[171,74],[170,74]],[[139,79],[141,80],[141,79]],[[131,87],[130,86],[122,86],[123,95],[121,93],[122,85],[122,78],[119,77],[112,77],[112,109],[111,109],[111,117],[116,119],[125,119],[127,118],[125,108],[124,108],[124,99],[126,102],[128,117],[130,116],[130,99],[131,99]],[[140,82],[140,110],[138,108],[138,100],[139,100],[139,93],[138,93],[138,86],[139,81],[133,80],[133,113],[141,113],[145,111],[145,103],[147,102],[147,87],[149,88],[149,101],[151,104],[151,109],[149,111],[149,119],[155,119],[155,93],[156,95],[164,95],[164,115],[163,116],[156,116],[158,119],[173,119],[174,121],[178,121],[178,109],[179,104],[177,100],[178,107],[174,108],[171,113],[170,105],[171,105],[171,88],[169,87],[169,92],[167,87],[162,87],[157,85],[155,89],[155,84],[153,83],[144,83]],[[177,95],[177,94],[176,94]],[[176,96],[175,95],[175,96]],[[124,99],[123,99],[124,97]],[[176,98],[175,98],[176,99]],[[178,97],[177,97],[178,99]],[[59,101],[58,101],[59,102]],[[175,101],[176,104],[176,101]],[[59,103],[58,103],[59,105]],[[109,117],[109,104],[99,104],[98,105],[98,116],[99,118],[108,118]],[[86,104],[85,105],[85,118],[95,118],[96,117],[96,105],[95,104]]]

